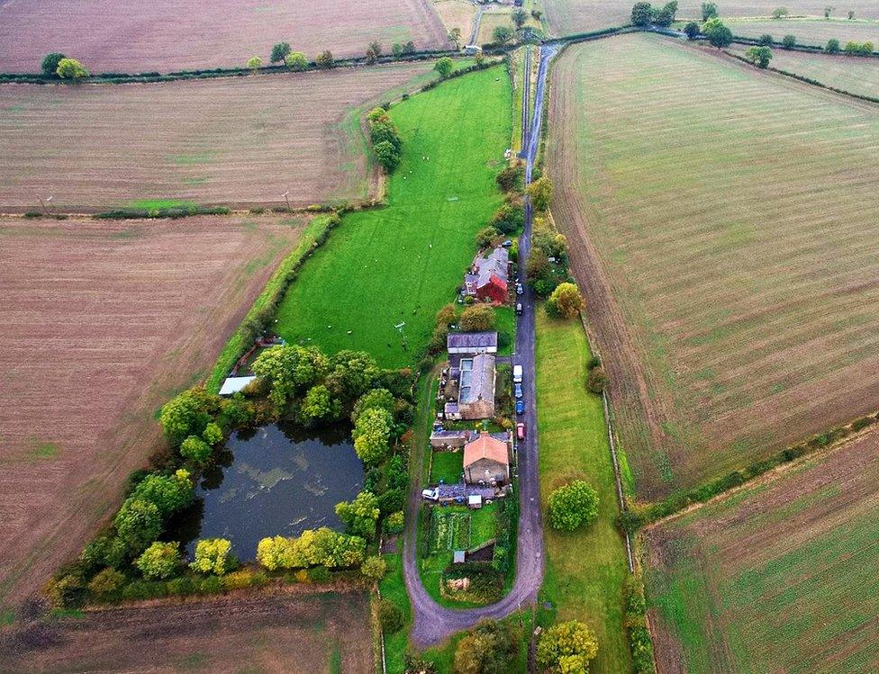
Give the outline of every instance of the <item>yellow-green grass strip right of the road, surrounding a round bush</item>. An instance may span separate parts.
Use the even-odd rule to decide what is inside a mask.
[[[585,531],[558,533],[547,527],[547,570],[540,600],[551,602],[557,619],[576,618],[598,637],[592,672],[630,670],[630,652],[622,625],[622,585],[628,570],[616,528],[619,514],[611,450],[602,401],[584,388],[590,357],[578,321],[537,320],[537,397],[540,493],[544,512],[548,494],[575,478],[599,494],[598,519]]]

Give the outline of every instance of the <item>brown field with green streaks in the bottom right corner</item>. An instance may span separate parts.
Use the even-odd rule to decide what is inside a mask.
[[[645,533],[660,672],[879,670],[879,433]]]

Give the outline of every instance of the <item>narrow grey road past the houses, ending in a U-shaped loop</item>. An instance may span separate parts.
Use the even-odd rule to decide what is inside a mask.
[[[522,148],[525,151],[525,182],[530,182],[537,157],[540,138],[540,124],[543,118],[543,93],[550,59],[556,54],[556,46],[544,46],[540,49],[540,65],[538,84],[534,101],[534,113],[529,117],[530,100],[530,50],[525,52],[524,73],[526,76],[522,86]],[[529,123],[530,120],[530,123]],[[531,207],[526,202],[525,227],[519,238],[520,269],[524,269],[530,253],[531,238]],[[421,485],[412,486],[406,517],[406,534],[403,549],[403,573],[406,589],[412,600],[414,625],[412,625],[412,642],[420,648],[440,643],[452,634],[466,630],[484,618],[503,618],[509,616],[517,608],[533,603],[537,598],[540,584],[543,581],[543,526],[540,514],[539,474],[538,474],[538,438],[537,438],[537,406],[534,367],[534,296],[530,288],[525,286],[521,296],[522,315],[516,331],[514,364],[521,364],[524,374],[525,415],[524,422],[528,429],[524,442],[519,443],[518,472],[520,518],[519,535],[516,546],[516,578],[510,593],[496,604],[487,607],[454,610],[440,607],[421,585],[415,559],[416,522],[418,501]]]

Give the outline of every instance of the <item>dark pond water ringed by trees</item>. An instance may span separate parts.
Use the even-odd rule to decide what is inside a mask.
[[[165,537],[186,545],[190,558],[197,539],[228,538],[241,560],[252,560],[266,536],[340,529],[336,504],[353,499],[363,485],[350,437],[344,428],[304,435],[284,424],[236,431],[221,465],[196,485],[195,505]]]

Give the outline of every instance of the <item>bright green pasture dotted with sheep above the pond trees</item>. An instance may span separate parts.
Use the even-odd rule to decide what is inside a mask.
[[[494,176],[511,106],[502,67],[395,105],[403,161],[388,181],[387,207],[345,216],[281,302],[278,334],[329,352],[362,349],[384,366],[412,364],[436,311],[454,299],[476,231],[503,201]]]

